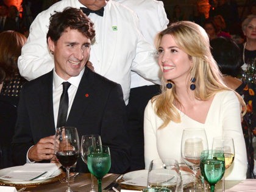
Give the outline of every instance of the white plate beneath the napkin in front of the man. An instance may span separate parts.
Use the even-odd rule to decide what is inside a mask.
[[[13,166],[10,168],[5,168],[0,170],[0,177],[8,174],[11,171],[15,171],[16,169],[21,168],[22,166]],[[12,184],[12,185],[34,185],[34,184],[40,184],[40,183],[48,183],[51,182],[54,177],[59,176],[62,173],[62,169],[57,169],[51,176],[46,177],[44,179],[39,179],[39,180],[5,180],[5,179],[0,179],[0,182],[3,184]],[[0,183],[0,184],[1,184]]]

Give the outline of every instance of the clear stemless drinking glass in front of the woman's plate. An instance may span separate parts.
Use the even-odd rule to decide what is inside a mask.
[[[179,163],[171,158],[155,159],[149,165],[148,187],[168,188],[171,192],[182,188]]]

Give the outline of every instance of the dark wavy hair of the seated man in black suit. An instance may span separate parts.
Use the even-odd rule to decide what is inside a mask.
[[[77,29],[90,40],[95,37],[93,23],[87,15],[80,9],[67,7],[63,12],[55,12],[54,15],[51,15],[46,41],[50,37],[52,41],[57,42],[68,28]]]

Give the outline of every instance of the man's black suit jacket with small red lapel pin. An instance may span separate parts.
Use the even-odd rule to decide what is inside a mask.
[[[16,165],[26,163],[28,149],[41,138],[55,134],[52,104],[52,71],[24,84],[20,95],[18,119],[12,141]],[[110,147],[110,172],[123,173],[130,166],[126,130],[126,108],[119,84],[85,68],[66,126],[77,128],[79,138],[99,134]],[[79,157],[76,171],[88,172]]]

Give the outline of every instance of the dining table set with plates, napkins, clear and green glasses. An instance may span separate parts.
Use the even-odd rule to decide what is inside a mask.
[[[75,127],[57,129],[54,154],[59,163],[26,163],[0,169],[0,192],[256,191],[254,179],[224,179],[224,172],[235,158],[233,139],[216,137],[208,147],[204,129],[183,130],[181,154],[184,162],[154,159],[149,169],[126,174],[109,174],[111,154],[108,146],[102,145],[99,135],[83,135],[80,143]],[[69,172],[79,155],[90,173]]]

